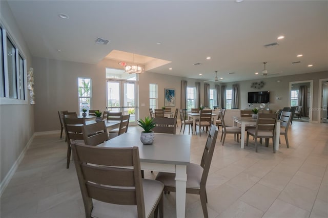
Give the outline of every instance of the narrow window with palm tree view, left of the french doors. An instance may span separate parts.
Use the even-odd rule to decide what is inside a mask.
[[[82,114],[82,108],[91,108],[91,79],[78,78],[78,105],[79,112]]]

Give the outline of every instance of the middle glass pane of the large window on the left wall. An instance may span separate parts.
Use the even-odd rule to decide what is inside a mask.
[[[17,98],[17,79],[16,79],[16,51],[14,45],[7,38],[7,62],[8,62],[8,85],[9,98]]]

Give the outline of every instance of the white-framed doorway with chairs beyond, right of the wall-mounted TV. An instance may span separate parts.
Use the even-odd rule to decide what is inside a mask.
[[[298,93],[299,86],[306,86],[306,88],[308,90],[307,94],[306,94],[307,95],[306,99],[302,99],[302,100],[306,101],[306,108],[304,108],[304,106],[302,106],[302,105],[298,105],[299,100],[297,99],[295,101],[295,95],[292,96],[292,91],[297,90],[297,93]],[[297,105],[292,105],[294,102],[297,102]],[[306,110],[305,113],[309,116],[309,122],[312,122],[313,80],[289,82],[289,106],[290,107],[291,106],[302,106],[302,108],[303,108],[302,110]],[[306,117],[306,120],[307,120],[307,117]],[[293,121],[297,121],[297,119],[294,119]]]

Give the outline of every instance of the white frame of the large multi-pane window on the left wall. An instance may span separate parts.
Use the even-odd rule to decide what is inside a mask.
[[[0,25],[1,32],[2,32],[2,43],[1,45],[1,51],[3,52],[3,59],[1,60],[1,64],[3,64],[3,77],[1,77],[1,84],[4,84],[4,90],[0,90],[0,104],[6,105],[6,104],[28,104],[28,95],[27,95],[27,61],[26,56],[22,52],[22,49],[20,49],[19,45],[16,43],[15,37],[10,35],[5,27],[3,25]],[[9,97],[9,76],[8,76],[8,59],[7,59],[7,38],[10,40],[12,45],[15,48],[15,76],[16,76],[16,87],[14,90],[15,98]],[[24,94],[20,93],[19,90],[19,56],[23,59],[23,85],[24,85]]]

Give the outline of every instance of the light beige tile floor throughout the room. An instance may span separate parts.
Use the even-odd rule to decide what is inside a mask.
[[[221,146],[219,133],[207,182],[209,216],[328,217],[327,133],[328,124],[293,122],[290,148],[281,137],[276,154],[265,146],[256,153],[253,140],[240,149],[230,134]],[[191,162],[200,162],[205,141],[206,134],[192,136]],[[175,217],[175,193],[164,198],[165,217]],[[198,195],[187,194],[186,202],[186,217],[202,217]],[[59,134],[34,138],[1,197],[0,216],[84,217],[74,163],[66,169]]]

